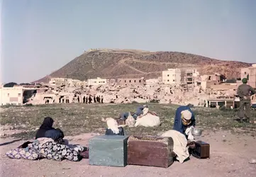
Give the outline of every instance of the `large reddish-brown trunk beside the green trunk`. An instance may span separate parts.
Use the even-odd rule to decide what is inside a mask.
[[[171,137],[128,138],[129,165],[158,166],[167,168],[174,161],[173,140]]]

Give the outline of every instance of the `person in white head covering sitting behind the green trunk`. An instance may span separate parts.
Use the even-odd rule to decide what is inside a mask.
[[[113,118],[106,118],[106,125],[108,127],[106,128],[105,135],[125,135],[123,127],[118,126],[118,122]]]

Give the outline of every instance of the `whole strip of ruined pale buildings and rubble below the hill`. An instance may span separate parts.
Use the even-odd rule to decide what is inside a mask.
[[[241,69],[241,77],[247,76],[255,86],[255,64]],[[76,79],[52,78],[42,86],[15,86],[1,88],[1,104],[51,104],[83,103],[84,98],[100,97],[104,103],[174,103],[195,106],[235,106],[238,83],[224,84],[221,74],[200,76],[196,69],[167,69],[155,79]]]

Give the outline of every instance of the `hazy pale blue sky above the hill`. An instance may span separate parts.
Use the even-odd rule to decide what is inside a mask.
[[[2,0],[0,9],[2,82],[35,81],[101,47],[256,62],[254,0]]]

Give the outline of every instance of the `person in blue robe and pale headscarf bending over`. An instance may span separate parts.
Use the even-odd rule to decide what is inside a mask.
[[[173,130],[184,134],[187,139],[194,140],[191,130],[196,126],[196,119],[193,111],[187,105],[182,105],[176,110]]]

